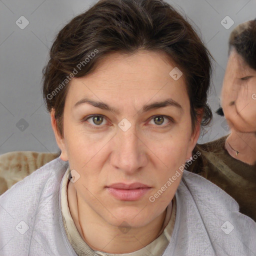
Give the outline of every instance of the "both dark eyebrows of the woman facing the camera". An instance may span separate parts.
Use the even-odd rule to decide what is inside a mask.
[[[98,107],[98,108],[101,108],[101,109],[104,109],[104,110],[112,111],[113,113],[119,113],[119,111],[116,108],[111,107],[111,106],[109,106],[108,104],[106,104],[104,102],[94,101],[94,100],[88,99],[86,97],[77,101],[74,104],[73,108],[77,107],[78,105],[84,104],[84,103],[88,103],[92,106],[95,106],[95,107]],[[180,109],[183,112],[182,106],[172,98],[167,98],[163,101],[154,101],[150,104],[145,104],[142,107],[142,112],[146,112],[146,111],[149,111],[149,110],[152,110],[152,109],[157,109],[157,108],[165,107],[165,106],[174,106],[174,107]]]

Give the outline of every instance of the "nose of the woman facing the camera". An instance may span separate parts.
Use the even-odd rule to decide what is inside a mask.
[[[134,125],[126,131],[118,128],[110,163],[115,168],[130,174],[139,171],[147,164],[146,146],[139,138]]]

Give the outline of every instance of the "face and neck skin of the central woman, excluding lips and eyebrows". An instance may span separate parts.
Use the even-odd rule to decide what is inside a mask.
[[[191,156],[201,122],[199,118],[192,134],[184,76],[172,79],[169,72],[174,67],[175,63],[163,52],[111,53],[93,73],[70,81],[63,137],[57,132],[54,110],[51,111],[60,158],[68,160],[70,169],[80,175],[76,182],[68,183],[70,213],[81,237],[92,249],[127,253],[158,236],[181,175],[154,202],[149,201],[149,196]],[[73,107],[84,97],[105,102],[116,113],[88,103]],[[142,111],[144,104],[167,98],[177,101],[182,110],[165,106]],[[104,115],[102,124],[93,128],[96,124],[92,118],[82,122],[91,114]],[[155,123],[154,115],[170,116],[174,122],[160,117],[163,123]],[[126,131],[118,127],[123,118],[131,124]],[[116,182],[141,182],[151,189],[138,200],[123,201],[106,188]],[[120,226],[130,229],[124,233]]]

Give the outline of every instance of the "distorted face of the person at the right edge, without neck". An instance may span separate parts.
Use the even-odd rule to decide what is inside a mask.
[[[231,129],[256,131],[256,70],[232,49],[221,92],[221,105]]]

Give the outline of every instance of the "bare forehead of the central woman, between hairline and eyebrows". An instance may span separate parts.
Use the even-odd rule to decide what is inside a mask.
[[[182,71],[175,64],[167,62],[163,56],[155,52],[137,53],[135,55],[110,55],[100,62],[94,72],[70,81],[71,91],[77,96],[82,91],[100,95],[126,96],[132,94],[183,95],[185,79]],[[171,76],[177,72],[176,76]],[[178,77],[179,76],[179,77]],[[93,94],[93,93],[92,93]],[[125,95],[124,95],[125,96]]]

